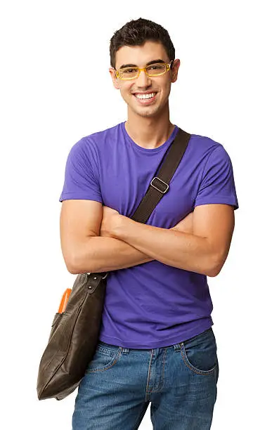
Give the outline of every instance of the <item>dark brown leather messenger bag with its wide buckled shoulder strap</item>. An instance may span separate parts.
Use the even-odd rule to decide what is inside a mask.
[[[134,221],[146,223],[163,195],[188,146],[190,134],[179,129],[157,176],[138,205]],[[39,400],[62,400],[77,388],[98,344],[109,273],[77,275],[63,313],[56,313],[37,379]]]

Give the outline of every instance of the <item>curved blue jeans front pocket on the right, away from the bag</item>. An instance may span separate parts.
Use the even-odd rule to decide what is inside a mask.
[[[182,343],[181,355],[187,367],[197,374],[212,374],[218,364],[216,339],[212,328]]]

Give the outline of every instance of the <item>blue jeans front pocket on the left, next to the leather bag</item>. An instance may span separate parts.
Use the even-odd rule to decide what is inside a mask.
[[[122,348],[120,346],[110,346],[103,344],[97,345],[93,359],[89,362],[86,373],[103,372],[114,366],[121,355]]]

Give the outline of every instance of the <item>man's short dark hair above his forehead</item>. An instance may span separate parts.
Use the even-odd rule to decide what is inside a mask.
[[[110,39],[110,65],[115,68],[115,55],[122,46],[140,46],[149,40],[160,41],[169,60],[174,60],[175,49],[167,30],[156,22],[138,18],[126,22]]]

